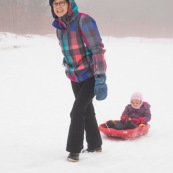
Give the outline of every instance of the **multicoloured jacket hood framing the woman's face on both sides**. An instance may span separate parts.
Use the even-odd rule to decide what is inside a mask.
[[[55,15],[54,11],[53,11],[53,1],[54,0],[49,0],[49,5],[51,6],[51,12],[52,12],[52,16],[53,18],[57,18],[57,16]],[[75,0],[66,0],[69,2],[69,9],[68,9],[68,12],[67,12],[67,15],[68,16],[72,16],[73,13],[78,13],[78,6],[76,5],[76,2]]]

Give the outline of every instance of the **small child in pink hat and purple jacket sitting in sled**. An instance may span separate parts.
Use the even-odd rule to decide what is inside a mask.
[[[140,92],[135,92],[131,96],[130,104],[125,107],[120,121],[109,120],[106,122],[106,126],[116,130],[134,129],[140,124],[147,124],[150,119],[150,105],[143,101]]]

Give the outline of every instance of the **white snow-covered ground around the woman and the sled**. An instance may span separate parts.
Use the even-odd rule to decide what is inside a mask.
[[[102,153],[67,162],[74,97],[56,37],[0,33],[1,173],[172,172],[173,39],[103,42],[109,96],[94,100],[98,123],[119,119],[132,92],[141,91],[151,104],[149,133],[135,140],[102,134]]]

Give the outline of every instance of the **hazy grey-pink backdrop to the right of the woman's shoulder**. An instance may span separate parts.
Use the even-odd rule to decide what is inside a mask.
[[[113,36],[173,37],[173,0],[76,0],[102,33]]]

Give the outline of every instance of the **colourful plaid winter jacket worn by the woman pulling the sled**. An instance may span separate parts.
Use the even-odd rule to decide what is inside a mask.
[[[105,49],[94,19],[79,13],[74,0],[69,1],[68,13],[62,18],[55,16],[53,26],[57,29],[67,77],[82,82],[106,73]]]

